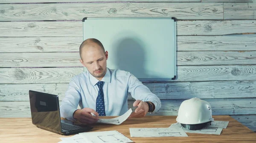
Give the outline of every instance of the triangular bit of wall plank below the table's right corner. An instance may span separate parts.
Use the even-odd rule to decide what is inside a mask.
[[[256,115],[232,115],[231,117],[256,132]]]

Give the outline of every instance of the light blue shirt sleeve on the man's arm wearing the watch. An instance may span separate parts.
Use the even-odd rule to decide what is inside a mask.
[[[157,112],[162,104],[157,95],[151,93],[151,91],[142,84],[134,75],[128,73],[128,92],[131,93],[131,96],[136,100],[141,101],[150,101],[155,105],[155,109],[152,113]]]

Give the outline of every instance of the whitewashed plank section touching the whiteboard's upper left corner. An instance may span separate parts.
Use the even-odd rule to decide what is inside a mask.
[[[83,36],[81,21],[0,22],[0,37]]]

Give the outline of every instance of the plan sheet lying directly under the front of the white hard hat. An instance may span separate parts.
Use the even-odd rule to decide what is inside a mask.
[[[204,127],[200,130],[189,130],[181,126],[180,123],[173,123],[170,127],[179,127],[183,129],[185,132],[189,133],[198,133],[198,134],[215,134],[215,135],[221,135],[222,128],[212,128],[212,127]],[[169,128],[170,128],[169,127]]]

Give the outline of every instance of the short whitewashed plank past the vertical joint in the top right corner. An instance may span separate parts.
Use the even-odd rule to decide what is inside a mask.
[[[256,3],[224,3],[224,20],[255,20]],[[254,22],[255,23],[255,22]]]

